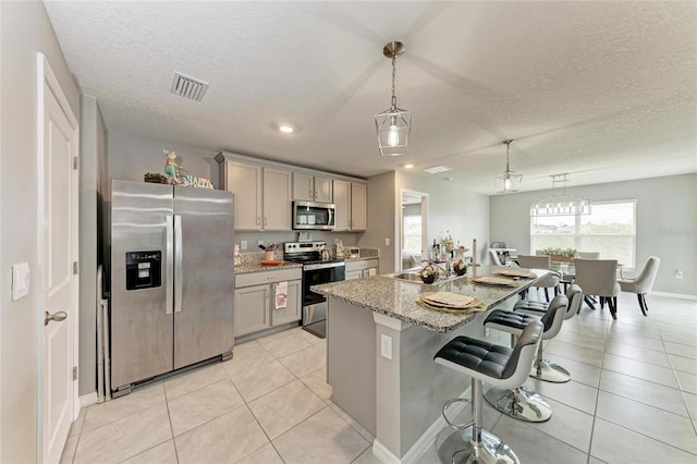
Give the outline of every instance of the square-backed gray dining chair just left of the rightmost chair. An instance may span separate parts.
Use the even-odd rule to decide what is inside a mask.
[[[620,295],[620,283],[617,282],[617,260],[616,259],[582,259],[574,260],[576,277],[574,283],[584,289],[584,301],[591,309],[595,309],[588,295],[600,298],[600,309],[608,302],[610,315],[617,319],[617,296]],[[578,308],[580,313],[580,307]]]

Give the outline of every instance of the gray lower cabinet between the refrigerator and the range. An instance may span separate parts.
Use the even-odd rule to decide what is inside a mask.
[[[302,274],[297,268],[235,276],[235,337],[301,320]],[[282,309],[276,309],[276,282],[288,282]]]

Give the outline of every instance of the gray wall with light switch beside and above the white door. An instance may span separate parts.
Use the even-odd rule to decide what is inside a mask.
[[[41,2],[0,2],[0,462],[36,462],[37,281],[36,62],[42,52],[80,119],[80,91]],[[27,261],[29,294],[12,302],[10,267]]]

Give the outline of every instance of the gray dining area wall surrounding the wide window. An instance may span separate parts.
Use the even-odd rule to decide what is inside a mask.
[[[566,192],[596,202],[636,198],[637,267],[656,255],[661,267],[653,290],[697,295],[697,174],[584,185]],[[491,240],[529,253],[529,204],[548,195],[551,191],[492,196]],[[683,280],[675,279],[678,269]]]

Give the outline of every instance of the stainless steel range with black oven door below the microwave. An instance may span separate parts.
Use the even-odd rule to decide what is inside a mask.
[[[303,264],[303,329],[326,338],[327,298],[309,288],[344,280],[344,260],[330,259],[325,242],[288,242],[283,245],[283,259]]]

